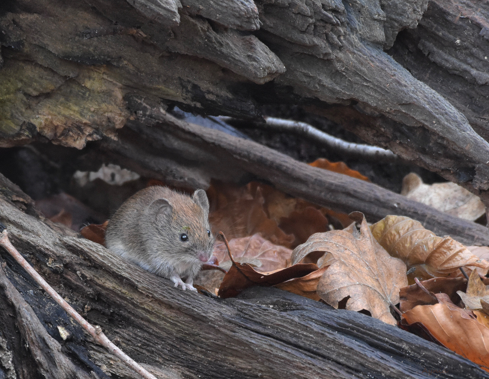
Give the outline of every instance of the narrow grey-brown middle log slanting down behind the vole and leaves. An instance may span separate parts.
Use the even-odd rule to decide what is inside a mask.
[[[133,103],[133,102],[132,102]],[[411,217],[437,235],[467,244],[489,244],[489,230],[453,217],[376,184],[296,161],[254,141],[190,124],[138,103],[139,120],[97,150],[112,161],[170,184],[208,188],[211,178],[246,182],[258,178],[294,197],[338,212],[361,211],[370,222],[388,214]],[[150,125],[148,127],[148,125]]]

